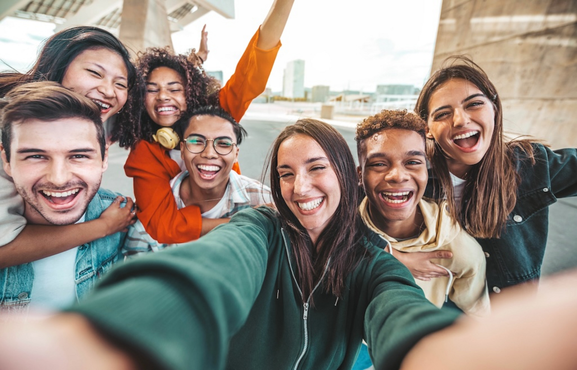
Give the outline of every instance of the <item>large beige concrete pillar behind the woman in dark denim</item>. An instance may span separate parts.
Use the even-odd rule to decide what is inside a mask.
[[[453,54],[489,75],[505,130],[577,147],[575,0],[443,0],[433,71]]]

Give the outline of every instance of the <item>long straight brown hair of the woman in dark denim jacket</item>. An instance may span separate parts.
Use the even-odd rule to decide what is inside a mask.
[[[489,149],[476,165],[471,166],[464,180],[462,207],[456,208],[454,191],[443,149],[434,139],[427,139],[427,154],[434,175],[442,187],[441,196],[447,197],[449,212],[454,219],[476,238],[499,238],[509,213],[517,201],[516,190],[520,178],[512,161],[515,148],[535,163],[531,143],[534,140],[514,139],[506,141],[503,135],[503,108],[497,89],[489,77],[466,56],[451,56],[445,67],[436,71],[419,94],[415,112],[426,122],[429,119],[429,100],[434,91],[450,79],[464,79],[473,83],[493,104],[494,131]]]

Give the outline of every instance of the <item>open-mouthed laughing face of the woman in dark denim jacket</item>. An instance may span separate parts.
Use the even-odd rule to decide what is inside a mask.
[[[492,102],[477,86],[464,79],[450,79],[429,99],[427,138],[443,148],[449,171],[463,177],[489,150],[494,119]]]

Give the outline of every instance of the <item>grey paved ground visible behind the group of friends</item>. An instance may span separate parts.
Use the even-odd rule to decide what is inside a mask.
[[[262,181],[265,159],[273,140],[293,120],[264,121],[242,120],[242,125],[249,132],[248,138],[242,142],[239,152],[242,174]],[[357,157],[357,147],[354,141],[352,127],[336,126],[343,134],[353,157]],[[115,190],[122,194],[133,196],[132,180],[125,176],[123,165],[128,151],[114,145],[110,148],[108,170],[104,173],[103,188]],[[576,174],[577,176],[577,174]],[[268,184],[268,179],[264,181]],[[543,275],[577,266],[577,197],[560,199],[550,208],[549,239],[542,266]]]

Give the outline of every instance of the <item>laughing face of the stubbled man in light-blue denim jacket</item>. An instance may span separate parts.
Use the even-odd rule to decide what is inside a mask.
[[[77,222],[100,187],[107,168],[93,122],[68,118],[14,123],[10,162],[4,169],[25,201],[25,217],[36,224]]]

